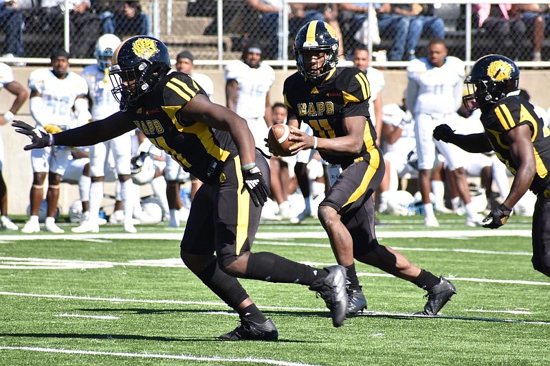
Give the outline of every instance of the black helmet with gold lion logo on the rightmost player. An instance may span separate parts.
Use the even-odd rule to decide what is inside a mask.
[[[510,91],[518,89],[520,70],[505,56],[487,55],[479,58],[466,77],[468,93],[462,97],[470,113],[487,103],[495,103]]]

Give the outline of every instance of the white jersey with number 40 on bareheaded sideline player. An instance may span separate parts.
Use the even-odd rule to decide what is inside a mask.
[[[57,126],[76,127],[73,106],[76,97],[88,94],[86,80],[69,71],[64,79],[58,79],[50,69],[32,71],[29,88],[42,95],[41,114],[48,116],[48,122]]]

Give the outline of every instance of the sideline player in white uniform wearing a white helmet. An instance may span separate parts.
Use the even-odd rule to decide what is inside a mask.
[[[111,93],[112,85],[109,80],[109,66],[113,59],[113,52],[120,45],[120,38],[114,34],[104,34],[96,42],[96,65],[88,65],[82,72],[85,78],[91,105],[91,123],[104,119],[105,117],[117,112],[119,104]],[[115,139],[101,142],[100,144],[90,146],[90,203],[89,216],[78,227],[72,231],[75,233],[97,233],[99,231],[99,211],[103,200],[105,168],[108,165],[109,153],[113,154],[115,168],[120,181],[120,195],[122,206],[124,207],[124,231],[135,233],[135,227],[131,221],[132,201],[129,199],[128,185],[130,179],[130,159],[131,159],[131,134],[124,133]],[[128,215],[126,215],[128,213]]]

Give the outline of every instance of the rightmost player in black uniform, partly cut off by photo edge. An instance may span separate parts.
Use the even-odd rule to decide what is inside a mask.
[[[465,84],[464,106],[481,110],[484,133],[456,135],[446,124],[434,130],[434,138],[470,152],[494,150],[514,174],[510,193],[483,220],[497,229],[508,220],[514,205],[531,190],[537,195],[533,212],[533,268],[550,277],[550,130],[533,106],[519,96],[520,71],[516,63],[500,55],[478,59]]]

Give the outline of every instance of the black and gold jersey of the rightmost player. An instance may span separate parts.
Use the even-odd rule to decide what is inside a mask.
[[[550,179],[550,130],[544,126],[533,106],[518,95],[509,95],[496,104],[481,108],[481,122],[485,127],[485,135],[489,139],[498,159],[506,164],[512,174],[516,174],[518,164],[511,159],[510,140],[507,132],[516,126],[528,124],[531,128],[531,141],[536,160],[536,176],[531,184],[531,190],[538,192],[543,180]]]

